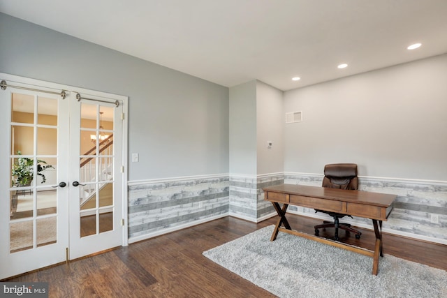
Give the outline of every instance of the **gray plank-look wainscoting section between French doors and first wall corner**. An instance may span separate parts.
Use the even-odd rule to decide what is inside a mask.
[[[228,216],[228,174],[129,182],[128,191],[129,243]]]

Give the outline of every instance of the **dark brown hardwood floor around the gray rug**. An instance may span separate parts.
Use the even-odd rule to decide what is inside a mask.
[[[202,253],[276,221],[276,216],[257,224],[221,218],[8,281],[46,281],[50,297],[274,297]],[[288,221],[294,230],[308,233],[321,223],[295,215],[289,215]],[[361,239],[346,237],[341,231],[340,241],[373,249],[374,232],[360,230]],[[328,229],[320,236],[332,233]],[[383,234],[383,249],[386,254],[447,270],[445,245]]]

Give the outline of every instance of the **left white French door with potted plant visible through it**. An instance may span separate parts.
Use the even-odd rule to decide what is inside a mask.
[[[7,119],[0,142],[8,148],[2,151],[8,166],[2,173],[7,200],[0,211],[1,278],[65,260],[68,191],[59,181],[68,177],[60,166],[68,158],[58,150],[68,147],[68,135],[61,133],[68,119],[59,117],[68,114],[68,105],[55,94],[20,89],[1,91],[0,101],[7,107],[0,110]]]

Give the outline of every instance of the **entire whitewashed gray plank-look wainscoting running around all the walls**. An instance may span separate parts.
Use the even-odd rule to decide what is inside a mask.
[[[224,216],[260,222],[276,216],[262,188],[277,184],[321,186],[323,175],[274,173],[249,177],[212,175],[129,182],[129,243],[166,234]],[[359,177],[360,191],[397,195],[383,232],[447,244],[447,181]],[[314,209],[288,207],[288,212],[330,219]],[[344,222],[372,229],[366,218]]]

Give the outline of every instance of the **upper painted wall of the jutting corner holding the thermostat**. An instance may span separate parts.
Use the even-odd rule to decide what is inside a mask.
[[[230,174],[284,172],[282,110],[283,92],[264,82],[230,88]]]

